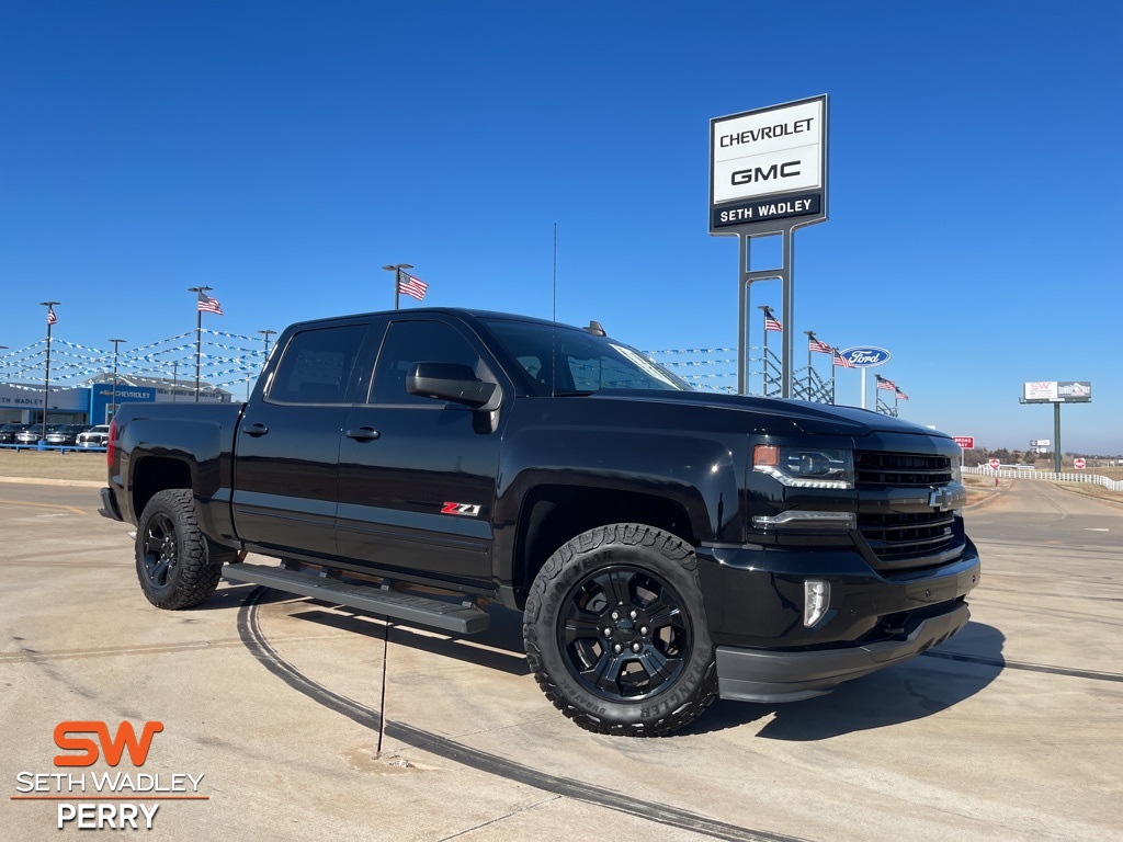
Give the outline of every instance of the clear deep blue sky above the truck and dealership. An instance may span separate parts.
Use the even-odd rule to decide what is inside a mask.
[[[1065,449],[1123,452],[1121,43],[1115,2],[3,0],[0,345],[48,299],[57,338],[148,345],[200,284],[245,336],[387,309],[398,262],[549,318],[556,223],[559,319],[733,347],[709,121],[825,93],[795,329],[889,349],[903,418],[992,448],[1053,437],[1023,382],[1090,381]]]

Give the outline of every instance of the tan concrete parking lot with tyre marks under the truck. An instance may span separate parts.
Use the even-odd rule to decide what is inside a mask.
[[[82,800],[156,805],[157,839],[1123,839],[1117,504],[1015,481],[968,512],[984,575],[960,635],[654,740],[554,711],[503,608],[463,639],[232,583],[158,611],[98,505],[93,487],[0,483],[10,839],[57,836]],[[55,767],[75,721],[163,723],[143,768],[118,767],[159,785],[106,802],[104,758]],[[58,772],[85,790],[24,791]]]

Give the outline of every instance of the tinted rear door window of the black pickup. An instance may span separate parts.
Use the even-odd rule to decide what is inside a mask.
[[[348,324],[294,335],[273,374],[268,400],[344,403],[365,333],[365,326]]]

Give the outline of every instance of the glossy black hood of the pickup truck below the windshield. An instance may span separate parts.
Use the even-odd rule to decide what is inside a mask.
[[[856,438],[875,432],[911,433],[948,438],[946,433],[930,430],[919,424],[871,410],[857,406],[831,406],[810,401],[779,397],[752,397],[705,392],[640,392],[632,390],[603,390],[584,399],[614,400],[642,403],[665,403],[682,406],[705,406],[727,412],[751,414],[760,420],[772,419],[774,423],[787,422],[800,432],[811,436],[853,436]]]

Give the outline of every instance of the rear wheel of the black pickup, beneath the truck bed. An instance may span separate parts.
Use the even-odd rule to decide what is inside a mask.
[[[206,601],[237,552],[207,539],[195,520],[191,489],[157,492],[137,523],[137,579],[148,602],[172,611]]]

